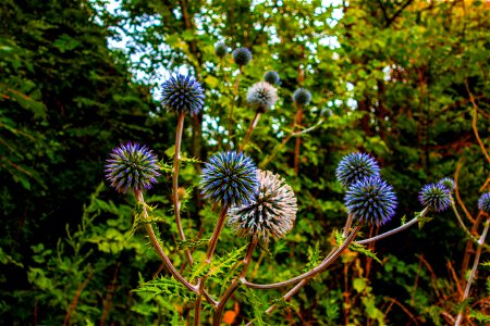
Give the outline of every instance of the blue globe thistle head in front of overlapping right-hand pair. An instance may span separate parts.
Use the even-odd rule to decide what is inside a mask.
[[[379,177],[365,177],[352,184],[344,200],[350,214],[377,226],[390,221],[397,205],[393,187]]]

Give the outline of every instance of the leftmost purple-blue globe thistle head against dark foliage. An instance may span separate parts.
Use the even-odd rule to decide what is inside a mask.
[[[149,189],[157,183],[158,159],[146,146],[127,142],[114,148],[110,156],[106,161],[106,178],[115,190],[126,193]]]

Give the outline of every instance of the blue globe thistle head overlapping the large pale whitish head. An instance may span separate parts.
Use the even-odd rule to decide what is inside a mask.
[[[205,163],[200,189],[205,198],[222,205],[248,203],[258,191],[257,167],[244,153],[217,153]]]

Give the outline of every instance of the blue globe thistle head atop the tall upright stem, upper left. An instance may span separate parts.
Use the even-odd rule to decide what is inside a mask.
[[[168,110],[196,114],[204,105],[204,89],[191,76],[171,76],[161,86],[161,103]]]

